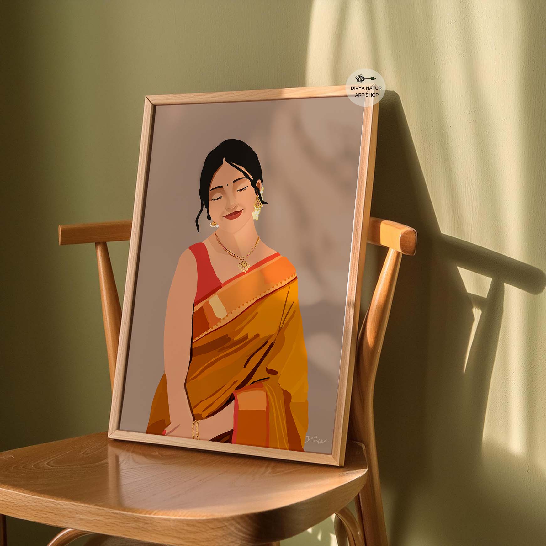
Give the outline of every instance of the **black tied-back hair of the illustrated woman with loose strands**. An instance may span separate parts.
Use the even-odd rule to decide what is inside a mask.
[[[201,210],[199,211],[197,218],[195,218],[197,231],[199,231],[199,216],[201,215],[201,212],[203,212],[203,209],[206,209],[206,217],[209,220],[211,219],[209,214],[210,183],[212,181],[212,177],[224,162],[224,159],[226,163],[229,163],[232,165],[232,167],[235,167],[235,169],[241,171],[245,178],[248,178],[248,174],[250,174],[251,177],[248,178],[248,180],[250,180],[251,186],[254,188],[254,192],[256,192],[256,195],[258,195],[258,199],[264,205],[267,205],[267,202],[262,199],[262,195],[256,187],[258,180],[262,181],[262,185],[264,183],[262,178],[262,165],[260,165],[256,152],[242,140],[224,140],[218,144],[215,149],[209,152],[209,155],[206,156],[205,162],[203,163],[201,180],[199,181]],[[238,167],[238,165],[244,167],[248,171],[248,174]]]

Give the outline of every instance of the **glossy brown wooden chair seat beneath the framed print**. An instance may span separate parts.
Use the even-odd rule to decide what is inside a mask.
[[[106,432],[0,453],[0,513],[141,541],[260,544],[316,525],[366,479],[345,466],[110,440]]]

